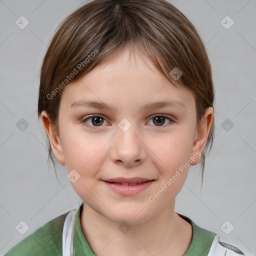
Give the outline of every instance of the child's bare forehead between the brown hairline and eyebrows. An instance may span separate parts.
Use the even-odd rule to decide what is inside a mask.
[[[135,105],[148,107],[157,101],[172,101],[172,106],[177,103],[176,106],[186,107],[193,99],[188,88],[174,86],[142,54],[132,54],[128,48],[66,85],[61,96],[61,101],[69,107],[93,101],[98,108],[101,105],[112,110]]]

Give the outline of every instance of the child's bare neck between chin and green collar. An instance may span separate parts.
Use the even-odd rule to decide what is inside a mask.
[[[192,237],[191,225],[174,212],[174,200],[158,214],[136,224],[113,221],[83,202],[80,220],[90,248],[100,256],[165,255],[166,251],[183,255]]]

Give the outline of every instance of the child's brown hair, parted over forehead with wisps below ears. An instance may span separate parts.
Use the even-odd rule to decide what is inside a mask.
[[[213,108],[214,88],[206,49],[192,23],[165,0],[92,0],[67,16],[57,27],[40,70],[38,117],[42,110],[58,129],[63,87],[88,73],[128,45],[140,52],[172,82],[189,88],[195,97],[196,123]],[[176,80],[170,71],[177,67]],[[73,74],[73,75],[71,75]],[[211,149],[214,117],[203,151]],[[48,140],[48,138],[46,138]],[[54,154],[48,140],[48,160]],[[201,184],[205,154],[201,152]]]

